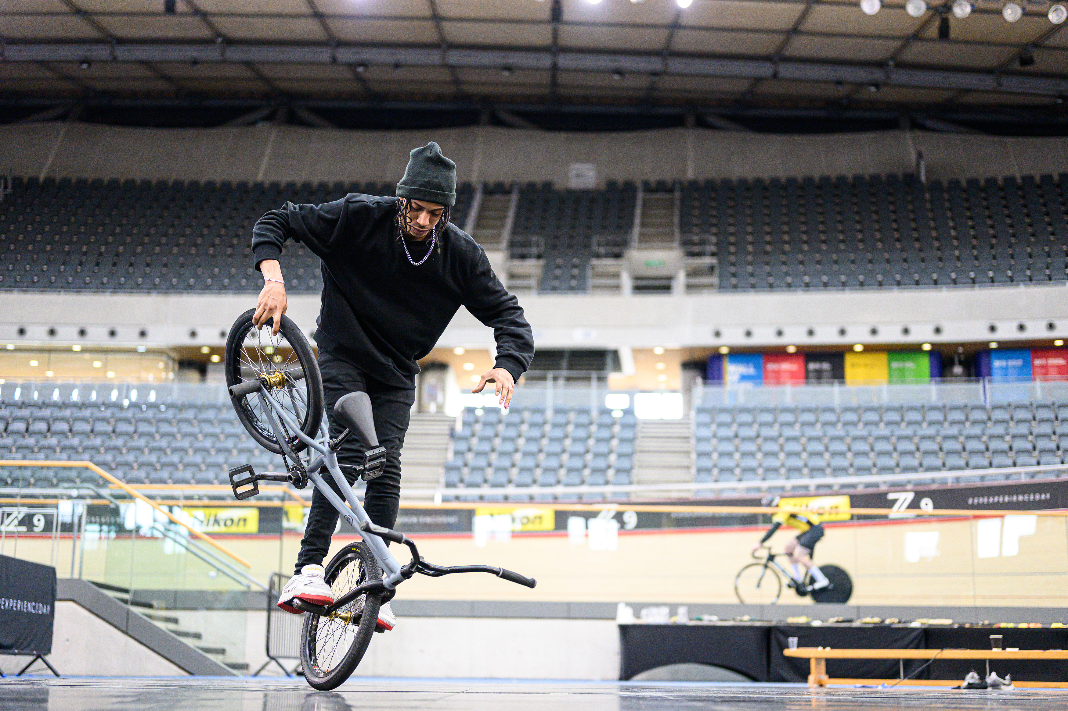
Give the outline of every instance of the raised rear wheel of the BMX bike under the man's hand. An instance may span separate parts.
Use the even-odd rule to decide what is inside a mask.
[[[263,328],[256,328],[252,323],[254,309],[249,309],[237,318],[230,328],[226,338],[226,355],[224,359],[226,386],[234,386],[261,376],[270,377],[274,373],[283,374],[278,387],[267,390],[267,397],[281,405],[294,420],[300,423],[300,430],[314,438],[323,421],[323,376],[319,374],[315,354],[308,339],[288,317],[282,317],[282,325],[278,335],[271,334],[273,319],[269,319]],[[303,372],[303,377],[295,378],[292,373]],[[278,376],[276,376],[278,377]],[[265,405],[260,400],[260,393],[231,398],[237,419],[261,447],[282,454],[279,445],[267,420]],[[274,415],[277,418],[278,416]],[[281,418],[279,424],[281,424]],[[304,443],[290,433],[289,446],[294,452],[304,449]]]

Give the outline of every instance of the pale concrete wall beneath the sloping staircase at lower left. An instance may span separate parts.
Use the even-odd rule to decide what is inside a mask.
[[[29,657],[0,657],[3,670],[14,674]],[[48,661],[64,676],[188,676],[148,647],[115,629],[77,602],[56,602],[56,629]],[[40,662],[33,669],[44,669]]]

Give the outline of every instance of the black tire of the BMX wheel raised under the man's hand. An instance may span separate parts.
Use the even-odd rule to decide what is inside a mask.
[[[226,373],[226,387],[230,388],[238,383],[242,383],[244,379],[240,376],[240,362],[238,359],[238,350],[245,339],[245,335],[251,329],[255,328],[252,323],[252,316],[255,313],[255,309],[249,309],[241,316],[237,317],[234,321],[234,325],[230,327],[230,334],[226,336],[226,351],[223,358],[224,370]],[[273,325],[273,319],[268,319],[267,324],[264,328],[270,328]],[[308,411],[304,414],[304,421],[301,422],[301,431],[311,438],[315,438],[319,434],[319,424],[323,422],[323,407],[325,402],[325,395],[323,393],[323,375],[319,373],[318,362],[315,360],[315,354],[312,352],[312,346],[308,343],[308,339],[304,338],[304,334],[297,327],[297,324],[293,322],[287,316],[282,317],[282,325],[279,328],[281,334],[285,336],[285,340],[289,342],[293,350],[297,354],[297,361],[304,372],[304,381],[307,382],[308,388]],[[241,426],[245,427],[249,436],[256,441],[257,445],[266,449],[268,452],[273,454],[282,454],[282,448],[279,443],[271,438],[264,436],[264,433],[253,423],[253,415],[251,408],[248,406],[248,398],[253,398],[258,395],[241,395],[237,398],[231,398],[230,402],[237,410],[237,419],[240,421]],[[269,431],[269,425],[265,424],[265,429]],[[290,442],[294,452],[302,451],[307,445],[299,439],[294,438]]]

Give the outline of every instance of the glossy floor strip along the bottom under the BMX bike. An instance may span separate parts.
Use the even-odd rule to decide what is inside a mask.
[[[0,681],[0,711],[800,711],[1068,709],[1068,692],[830,689],[799,684],[354,679],[335,692],[303,679],[22,678]]]

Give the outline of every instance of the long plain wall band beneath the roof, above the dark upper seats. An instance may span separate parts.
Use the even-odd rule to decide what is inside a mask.
[[[1068,139],[910,131],[774,135],[709,129],[566,133],[498,127],[341,131],[297,126],[151,129],[0,126],[0,171],[25,176],[199,180],[396,180],[434,140],[460,180],[567,183],[569,163],[598,178],[742,178],[911,171],[931,178],[1068,171]]]

